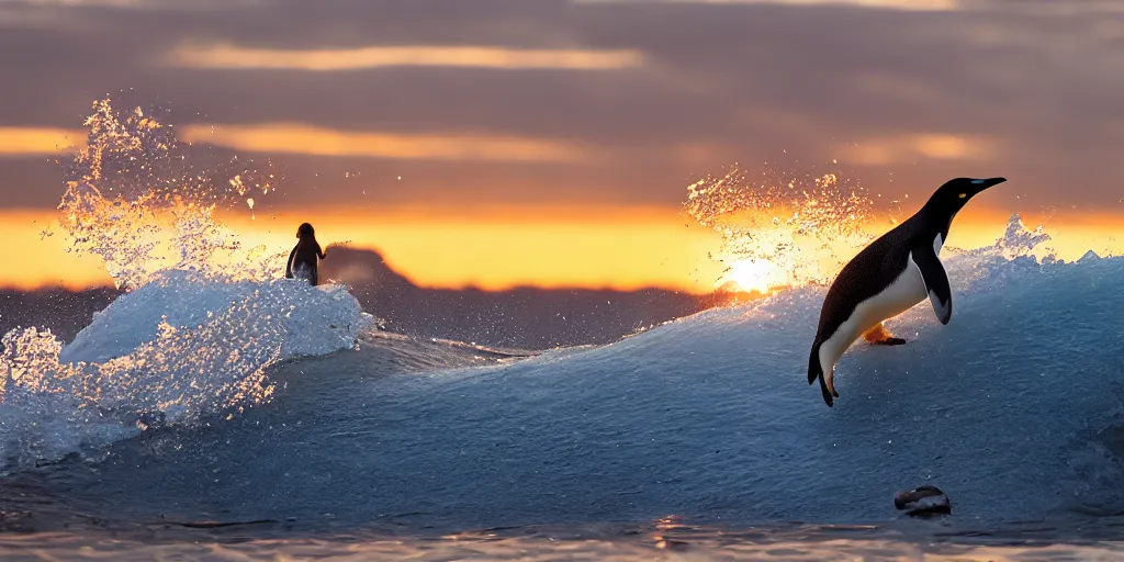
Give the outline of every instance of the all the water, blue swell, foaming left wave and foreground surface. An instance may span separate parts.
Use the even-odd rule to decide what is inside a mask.
[[[952,321],[921,303],[888,323],[907,345],[853,346],[834,408],[818,283],[490,350],[136,232],[107,257],[132,290],[73,342],[4,337],[6,560],[1124,559],[1124,259],[1041,255],[1017,217],[945,250]],[[244,251],[179,254],[216,247]],[[894,508],[923,484],[950,516]]]

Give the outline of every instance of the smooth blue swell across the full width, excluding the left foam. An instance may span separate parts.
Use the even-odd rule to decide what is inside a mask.
[[[529,357],[369,328],[354,346],[269,363],[273,396],[241,411],[144,428],[102,419],[124,433],[55,439],[79,444],[39,445],[52,454],[34,462],[7,451],[22,464],[9,464],[2,500],[27,520],[109,529],[264,522],[243,527],[250,536],[628,528],[670,516],[727,533],[800,522],[932,536],[1034,523],[1064,537],[1115,520],[1124,259],[945,261],[952,321],[940,325],[925,302],[888,324],[908,345],[855,344],[834,408],[805,377],[818,287]],[[132,310],[144,307],[126,305],[101,325],[139,321]],[[72,345],[98,347],[96,336]],[[9,448],[37,443],[6,430]],[[952,500],[936,527],[894,509],[896,491],[921,484]],[[33,528],[51,528],[47,518]]]

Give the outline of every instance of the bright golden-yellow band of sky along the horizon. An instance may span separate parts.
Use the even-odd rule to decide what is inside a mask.
[[[966,209],[953,224],[948,245],[992,244],[1009,216]],[[81,289],[111,282],[99,259],[65,252],[57,226],[49,226],[53,236],[43,237],[55,217],[44,211],[0,214],[0,235],[21,248],[21,266],[0,270],[0,285]],[[558,207],[401,207],[354,212],[309,208],[257,214],[253,219],[239,211],[224,219],[246,244],[266,244],[277,251],[291,248],[296,226],[307,220],[316,227],[321,245],[347,243],[377,250],[413,282],[435,288],[661,287],[703,293],[714,289],[725,269],[707,256],[718,251],[718,235],[678,211],[656,208],[597,212]],[[1053,237],[1049,246],[1066,260],[1076,260],[1088,250],[1102,255],[1124,253],[1124,217],[1026,215],[1024,223],[1032,228],[1044,225]]]

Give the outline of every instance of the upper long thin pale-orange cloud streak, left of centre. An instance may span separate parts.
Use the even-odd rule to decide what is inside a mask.
[[[197,69],[272,69],[312,72],[388,66],[461,66],[499,70],[604,71],[641,66],[638,51],[519,49],[482,46],[378,46],[360,48],[280,49],[230,44],[184,45],[167,60]]]

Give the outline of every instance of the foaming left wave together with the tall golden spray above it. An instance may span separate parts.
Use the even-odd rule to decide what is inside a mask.
[[[374,327],[345,288],[278,279],[283,248],[246,248],[215,218],[271,192],[269,166],[199,156],[160,111],[93,107],[87,144],[65,165],[60,218],[69,251],[100,256],[127,292],[69,345],[35,327],[3,336],[9,469],[233,416],[273,397],[270,366],[354,346]]]

